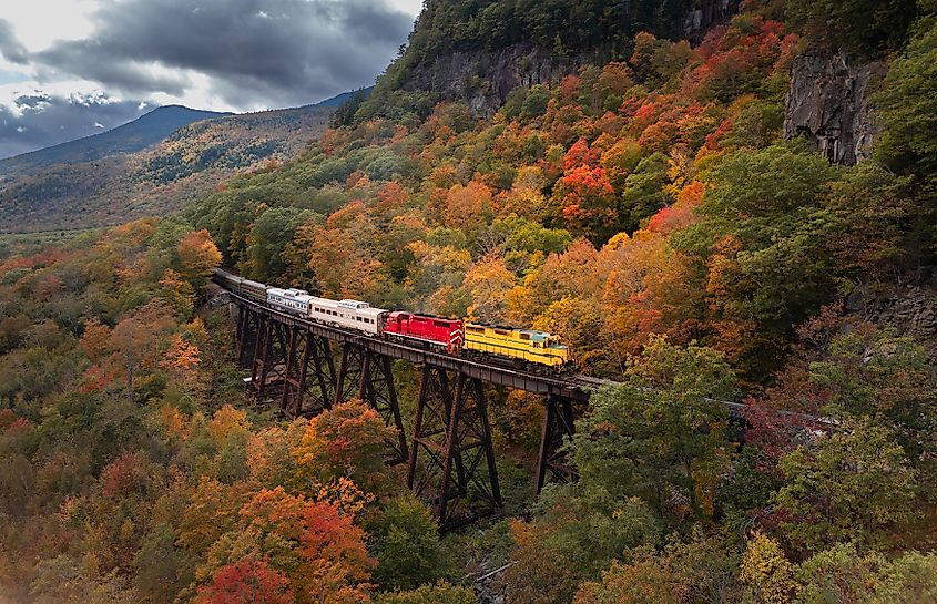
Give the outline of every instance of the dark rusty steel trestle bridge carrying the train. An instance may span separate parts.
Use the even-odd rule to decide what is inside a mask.
[[[218,284],[221,285],[221,284]],[[580,375],[537,373],[370,337],[272,308],[222,288],[235,321],[235,357],[251,369],[248,391],[292,418],[314,417],[358,398],[394,429],[388,462],[407,464],[407,485],[428,501],[441,529],[501,506],[486,385],[543,397],[534,494],[548,480],[569,482],[574,471],[561,451],[591,395],[617,382]],[[419,395],[405,433],[393,361],[413,364]],[[744,405],[724,402],[734,416]]]

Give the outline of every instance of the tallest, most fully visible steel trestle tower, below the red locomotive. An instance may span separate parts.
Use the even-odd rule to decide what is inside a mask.
[[[455,381],[455,383],[454,383]],[[422,457],[422,463],[419,463]],[[424,365],[407,485],[435,508],[442,530],[472,522],[479,511],[462,503],[501,506],[488,403],[481,380]]]

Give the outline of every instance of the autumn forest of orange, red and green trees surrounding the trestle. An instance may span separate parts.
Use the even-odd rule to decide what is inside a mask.
[[[747,1],[691,44],[686,7],[562,6],[428,2],[298,157],[170,218],[3,252],[14,602],[937,600],[937,7]],[[614,35],[588,19],[619,10]],[[490,117],[407,88],[419,62],[551,39],[615,50]],[[882,64],[856,165],[783,134],[815,49]],[[140,174],[228,140],[200,127]],[[579,480],[536,500],[542,401],[491,388],[506,505],[439,535],[366,405],[289,420],[245,399],[227,315],[197,309],[216,265],[543,329],[621,386],[577,419]],[[409,418],[415,369],[394,372]]]

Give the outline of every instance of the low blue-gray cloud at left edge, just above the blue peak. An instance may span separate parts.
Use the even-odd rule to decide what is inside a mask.
[[[98,134],[135,120],[153,106],[108,96],[19,96],[16,109],[0,105],[0,158]]]

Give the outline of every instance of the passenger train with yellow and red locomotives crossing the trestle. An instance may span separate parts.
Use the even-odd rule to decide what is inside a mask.
[[[387,310],[361,300],[333,300],[313,296],[305,289],[245,279],[221,268],[214,270],[214,281],[243,298],[283,313],[447,355],[481,355],[515,367],[547,367],[554,371],[562,371],[572,362],[569,347],[559,336],[547,331]]]

